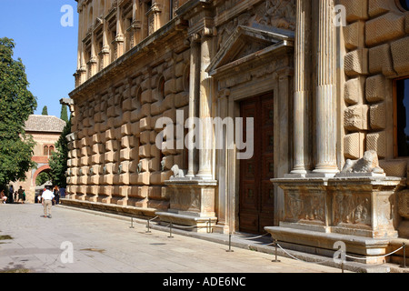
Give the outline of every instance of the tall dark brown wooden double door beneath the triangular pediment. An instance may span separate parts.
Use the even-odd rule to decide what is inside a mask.
[[[240,231],[264,234],[264,226],[274,223],[274,101],[273,94],[240,103],[245,121],[254,118],[254,155],[240,160]]]

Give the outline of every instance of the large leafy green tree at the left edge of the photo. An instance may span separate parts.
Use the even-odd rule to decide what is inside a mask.
[[[25,173],[35,167],[35,142],[25,135],[24,126],[37,102],[28,90],[25,65],[13,59],[14,48],[13,39],[0,38],[0,186],[25,180]]]

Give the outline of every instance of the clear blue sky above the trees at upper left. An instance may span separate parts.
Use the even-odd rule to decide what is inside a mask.
[[[74,8],[74,26],[64,27],[63,5]],[[60,117],[59,100],[75,88],[78,44],[75,0],[0,0],[0,37],[15,40],[14,58],[25,65],[29,90],[37,97],[35,114],[43,107]]]

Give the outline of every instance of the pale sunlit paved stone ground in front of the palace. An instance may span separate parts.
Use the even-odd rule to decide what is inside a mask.
[[[0,272],[33,273],[341,273],[330,266],[227,246],[152,229],[129,218],[117,219],[53,206],[44,218],[41,205],[1,205]],[[73,263],[64,260],[72,244]],[[62,248],[63,246],[63,248]]]

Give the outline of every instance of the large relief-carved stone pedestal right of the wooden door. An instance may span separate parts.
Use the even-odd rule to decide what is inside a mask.
[[[304,251],[334,250],[343,241],[348,254],[382,256],[397,237],[395,193],[404,179],[385,176],[272,179],[284,189],[284,219],[265,227],[274,239]],[[379,263],[380,259],[367,260]],[[382,259],[381,259],[382,260]]]

